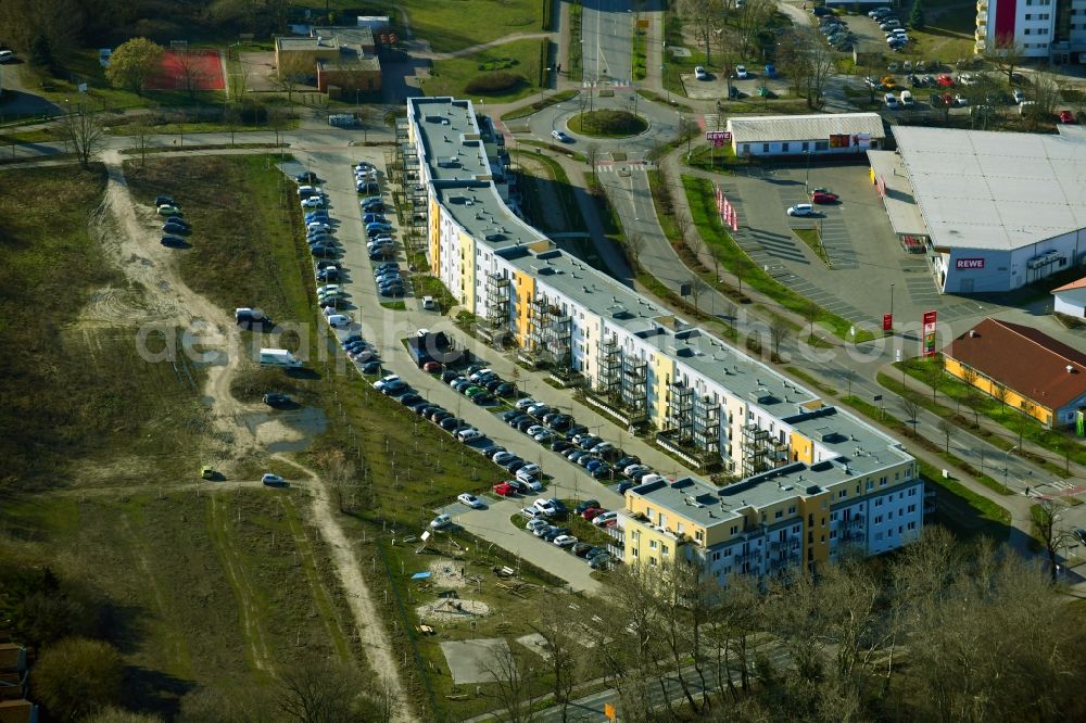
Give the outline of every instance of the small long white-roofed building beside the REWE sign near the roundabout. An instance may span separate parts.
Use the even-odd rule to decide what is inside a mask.
[[[877,113],[756,115],[728,119],[735,155],[839,155],[882,148]]]

